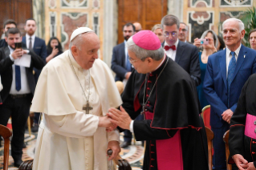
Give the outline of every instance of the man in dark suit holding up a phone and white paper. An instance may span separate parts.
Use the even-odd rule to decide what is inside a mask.
[[[10,28],[6,33],[7,47],[0,49],[0,74],[3,89],[0,93],[0,124],[6,126],[8,119],[12,118],[13,137],[11,141],[11,155],[14,166],[22,163],[22,147],[26,120],[30,111],[31,99],[35,91],[33,67],[42,69],[45,65],[43,59],[33,51],[22,48],[15,49],[15,42],[21,42],[18,28]],[[19,58],[30,55],[30,67],[14,65]]]

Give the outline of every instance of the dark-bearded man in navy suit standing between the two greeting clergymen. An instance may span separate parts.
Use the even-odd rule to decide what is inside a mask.
[[[123,26],[124,42],[118,44],[113,48],[112,54],[112,71],[116,73],[116,81],[126,82],[132,73],[132,64],[129,61],[128,50],[126,42],[135,34],[135,26],[132,23],[127,23]],[[121,144],[122,148],[128,147],[132,142],[132,133],[128,130],[124,131],[124,142]]]

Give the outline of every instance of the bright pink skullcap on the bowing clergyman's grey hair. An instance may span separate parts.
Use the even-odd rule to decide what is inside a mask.
[[[161,42],[151,30],[140,30],[132,36],[133,42],[140,48],[156,51],[161,47]]]

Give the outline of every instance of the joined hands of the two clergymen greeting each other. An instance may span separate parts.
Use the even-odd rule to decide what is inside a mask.
[[[107,132],[112,132],[117,126],[123,129],[130,129],[132,119],[123,107],[108,109],[106,116],[100,117],[99,127],[106,127]]]

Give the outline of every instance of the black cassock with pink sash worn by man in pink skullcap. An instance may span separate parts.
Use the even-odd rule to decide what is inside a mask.
[[[140,114],[148,99],[145,119],[133,123],[136,140],[146,141],[144,170],[208,169],[207,141],[196,87],[177,63],[166,58],[161,67],[147,75],[133,71],[122,99],[122,106],[132,119]]]

